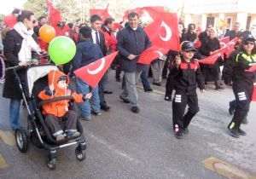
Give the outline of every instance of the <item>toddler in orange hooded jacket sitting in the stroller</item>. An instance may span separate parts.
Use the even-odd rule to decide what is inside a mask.
[[[91,93],[86,95],[77,94],[75,92],[72,93],[72,90],[68,89],[69,78],[58,70],[49,72],[48,83],[49,87],[45,87],[45,89],[38,94],[38,97],[43,101],[55,97],[72,95],[75,102],[83,102],[91,97]],[[78,115],[73,110],[68,110],[68,102],[69,100],[53,101],[42,106],[45,124],[56,141],[61,141],[66,136],[80,135],[76,127]],[[65,133],[61,129],[60,121],[65,122]]]

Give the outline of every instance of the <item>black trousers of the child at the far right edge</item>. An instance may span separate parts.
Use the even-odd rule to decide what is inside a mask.
[[[240,127],[241,121],[243,118],[247,116],[247,113],[250,109],[250,103],[252,101],[252,95],[253,95],[253,84],[245,84],[245,83],[236,83],[233,82],[233,92],[236,97],[236,109],[234,116],[229,124],[233,125],[231,126],[231,129],[236,126],[237,128]],[[234,124],[232,124],[234,122]]]

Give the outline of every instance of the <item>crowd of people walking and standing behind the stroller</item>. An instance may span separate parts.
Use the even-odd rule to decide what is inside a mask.
[[[1,26],[0,59],[2,66],[0,83],[5,82],[3,97],[10,99],[9,116],[13,130],[20,127],[20,101],[22,97],[13,72],[4,73],[4,66],[26,66],[26,60],[32,58],[43,60],[49,44],[40,38],[38,32],[40,27],[47,23],[45,16],[36,20],[31,11],[20,10],[17,13],[15,26],[10,28]],[[90,16],[90,25],[80,24],[77,26],[61,21],[55,27],[56,36],[67,36],[77,44],[77,51],[73,60],[62,66],[65,75],[63,76],[65,79],[67,76],[73,78],[74,70],[118,50],[119,54],[113,61],[111,68],[116,71],[116,81],[122,81],[123,91],[119,98],[130,105],[132,113],[139,113],[136,87],[139,78],[142,78],[145,92],[153,91],[148,82],[148,74],[153,76],[153,84],[157,86],[162,85],[162,78],[166,78],[164,100],[172,101],[173,130],[177,138],[182,138],[183,134],[189,133],[189,123],[195,113],[199,111],[196,95],[197,84],[201,92],[206,92],[205,85],[209,82],[215,84],[215,90],[224,90],[224,84],[232,85],[236,99],[230,101],[229,112],[234,116],[227,130],[230,136],[245,136],[246,132],[241,130],[241,123],[247,123],[247,113],[253,93],[253,82],[255,81],[255,73],[246,71],[256,63],[255,39],[252,33],[239,31],[240,24],[236,22],[234,29],[224,35],[230,40],[239,38],[235,45],[236,50],[229,57],[219,57],[213,65],[203,65],[198,61],[220,49],[216,30],[212,25],[207,25],[204,32],[195,32],[195,24],[189,24],[188,28],[184,28],[183,23],[180,22],[177,26],[181,50],[179,52],[170,50],[167,55],[160,56],[150,65],[144,65],[137,63],[137,59],[145,49],[152,46],[152,43],[147,33],[144,32],[137,13],[128,14],[128,22],[125,23],[125,26],[115,23],[113,18],[102,21],[102,17],[98,14]],[[41,55],[38,56],[39,54]],[[223,75],[220,66],[224,66]],[[150,69],[149,72],[148,69]],[[121,72],[124,72],[122,80]],[[24,72],[19,73],[21,80],[25,78]],[[221,79],[224,80],[224,84]],[[75,77],[75,83],[79,94],[86,95],[91,92],[90,99],[88,97],[88,100],[79,102],[80,119],[90,120],[91,114],[98,116],[102,115],[101,109],[107,112],[110,110],[105,99],[106,94],[113,93],[107,89],[106,85],[108,72],[104,74],[98,86],[93,90],[81,78]],[[173,99],[172,90],[175,90]],[[184,115],[187,105],[189,110]],[[54,131],[53,133],[56,133],[56,130]]]

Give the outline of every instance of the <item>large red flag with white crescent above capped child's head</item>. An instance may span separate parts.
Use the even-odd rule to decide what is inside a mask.
[[[177,30],[177,14],[163,12],[158,20],[145,27],[148,38],[154,45],[179,51],[179,34]]]

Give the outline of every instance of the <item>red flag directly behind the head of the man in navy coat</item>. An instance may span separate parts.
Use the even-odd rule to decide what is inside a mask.
[[[143,16],[147,16],[149,14],[149,16],[153,20],[157,20],[158,18],[160,18],[160,14],[164,13],[164,7],[151,6],[151,7],[143,7],[143,8],[126,10],[123,16],[123,22],[128,19],[128,14],[131,12],[137,13],[140,16],[140,18],[142,18]]]

